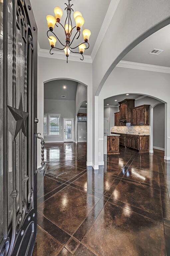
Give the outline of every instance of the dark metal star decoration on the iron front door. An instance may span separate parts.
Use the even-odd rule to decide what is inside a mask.
[[[15,125],[15,133],[14,133],[14,139],[15,140],[17,134],[19,133],[20,130],[22,130],[23,134],[25,137],[27,136],[26,134],[26,128],[25,128],[25,120],[27,119],[27,116],[29,113],[23,111],[23,104],[22,104],[22,95],[20,96],[20,102],[19,102],[19,107],[13,108],[11,106],[8,106],[11,114],[16,120],[16,125]]]

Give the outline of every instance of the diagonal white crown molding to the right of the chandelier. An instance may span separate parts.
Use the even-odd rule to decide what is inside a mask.
[[[119,3],[119,0],[111,0],[110,1],[109,7],[107,9],[106,15],[104,17],[103,23],[101,25],[100,31],[98,33],[97,39],[95,41],[94,47],[93,47],[92,52],[91,52],[92,61],[94,60],[94,58],[97,54],[97,51],[100,47],[100,44],[103,41],[104,35],[105,35],[109,25],[110,25],[110,22],[113,18],[113,15],[115,13],[115,10],[117,8],[118,3]]]

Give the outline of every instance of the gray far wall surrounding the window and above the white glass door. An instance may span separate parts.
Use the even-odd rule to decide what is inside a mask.
[[[63,138],[63,118],[75,118],[75,100],[49,100],[44,99],[45,114],[61,114],[60,136],[44,136],[45,142],[64,141]]]

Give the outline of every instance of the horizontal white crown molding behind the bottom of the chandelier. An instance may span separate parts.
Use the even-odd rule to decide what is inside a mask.
[[[66,55],[64,54],[64,52],[54,51],[54,54],[50,54],[49,50],[41,49],[41,48],[39,48],[38,56],[39,57],[45,57],[45,58],[54,58],[54,59],[66,60]],[[83,55],[83,56],[84,56],[84,62],[92,63],[91,56],[89,56],[89,55]],[[80,61],[80,62],[82,62],[82,60],[80,60],[79,54],[76,54],[76,53],[71,53],[70,54],[69,61],[70,60],[71,61]]]

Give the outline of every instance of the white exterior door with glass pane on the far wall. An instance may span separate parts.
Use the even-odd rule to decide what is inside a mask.
[[[64,118],[64,142],[74,141],[74,118]]]

